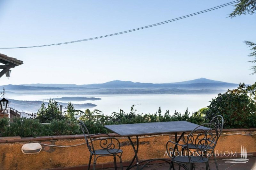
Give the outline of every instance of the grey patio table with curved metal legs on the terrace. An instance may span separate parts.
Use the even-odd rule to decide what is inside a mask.
[[[175,142],[179,143],[180,139],[183,137],[185,132],[190,132],[195,129],[197,124],[190,123],[187,121],[173,121],[173,122],[154,122],[154,123],[135,123],[135,124],[120,124],[120,125],[105,125],[104,127],[117,133],[122,137],[128,137],[129,141],[131,142],[132,148],[134,150],[134,157],[132,162],[128,166],[126,170],[131,169],[133,166],[137,166],[137,170],[139,170],[139,164],[145,161],[148,161],[144,166],[141,167],[143,169],[149,162],[155,160],[163,160],[168,162],[169,164],[170,159],[148,159],[139,162],[138,159],[138,151],[139,151],[139,136],[143,135],[156,135],[156,134],[166,134],[166,133],[175,133]],[[205,127],[205,130],[209,128]],[[181,133],[180,137],[177,138],[177,133]],[[131,137],[136,136],[137,140],[137,147],[135,148],[134,144],[132,143]],[[177,149],[177,145],[174,147],[174,150]],[[136,164],[132,166],[133,162],[136,159]]]

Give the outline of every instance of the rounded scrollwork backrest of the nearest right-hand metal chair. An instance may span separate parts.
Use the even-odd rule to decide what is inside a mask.
[[[209,129],[205,130],[205,127]],[[217,140],[218,129],[215,125],[204,123],[197,126],[187,137],[186,150],[189,161],[197,162],[201,159],[208,159],[212,154],[212,148],[217,144]]]

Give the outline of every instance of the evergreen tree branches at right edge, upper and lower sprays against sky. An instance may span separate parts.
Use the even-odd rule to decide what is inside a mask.
[[[229,14],[229,17],[233,18],[240,15],[252,15],[256,11],[256,0],[240,0],[235,5],[235,10]],[[251,63],[256,63],[256,44],[250,41],[244,41],[248,47],[252,47],[252,53],[249,56],[254,57],[255,60],[249,61]],[[256,74],[256,66],[252,66],[252,74]]]

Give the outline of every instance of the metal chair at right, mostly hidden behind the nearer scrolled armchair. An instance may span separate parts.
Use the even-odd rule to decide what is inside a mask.
[[[222,130],[223,130],[223,125],[224,125],[224,118],[223,118],[223,116],[221,116],[221,115],[218,115],[218,116],[215,116],[212,120],[211,120],[211,122],[210,122],[210,124],[213,124],[214,126],[216,126],[216,128],[217,128],[217,130],[218,130],[218,136],[217,136],[217,141],[218,141],[218,139],[220,138],[220,135],[221,135],[221,133],[222,133]],[[186,138],[184,138],[184,136],[183,136],[183,141],[186,143]],[[216,141],[216,142],[217,142]],[[187,147],[187,145],[183,145],[182,146],[182,153],[183,153],[183,151],[184,151],[184,149]],[[200,147],[200,146],[199,146]],[[188,144],[188,148],[189,149],[195,149],[195,147],[194,147],[194,145],[193,144]],[[216,166],[216,168],[217,168],[217,170],[219,170],[219,168],[218,168],[218,164],[217,164],[217,160],[216,160],[216,157],[215,157],[215,154],[214,154],[214,148],[212,148],[212,147],[209,147],[209,150],[212,150],[212,155],[213,155],[213,158],[214,158],[214,162],[215,162],[215,166]]]

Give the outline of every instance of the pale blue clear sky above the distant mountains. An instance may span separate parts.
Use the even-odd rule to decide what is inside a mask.
[[[231,0],[0,0],[0,47],[74,41],[151,25]],[[244,40],[256,42],[256,15],[227,18],[233,6],[107,38],[26,49],[0,49],[24,62],[0,85],[167,83],[209,78],[252,84]]]

